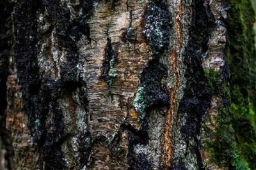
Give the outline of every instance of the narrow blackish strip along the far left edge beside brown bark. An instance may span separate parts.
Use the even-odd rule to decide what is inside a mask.
[[[6,129],[6,81],[11,70],[9,60],[12,58],[13,25],[12,11],[14,2],[0,2],[0,147],[1,164],[0,169],[15,168],[13,162],[14,151],[12,148],[12,136]],[[3,162],[3,164],[2,164]]]

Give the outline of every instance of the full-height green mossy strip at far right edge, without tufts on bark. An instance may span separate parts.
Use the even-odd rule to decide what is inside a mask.
[[[253,24],[255,13],[252,2],[232,0],[228,12],[228,65],[230,67],[230,115],[240,159],[232,162],[239,168],[241,162],[256,169],[255,97],[248,96],[255,90],[256,53]],[[253,99],[254,98],[254,99]],[[241,168],[243,169],[243,168]]]

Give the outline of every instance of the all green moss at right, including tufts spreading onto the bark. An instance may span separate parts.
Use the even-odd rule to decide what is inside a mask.
[[[256,169],[255,13],[251,1],[231,1],[227,20],[228,82],[221,81],[220,73],[214,70],[205,73],[209,89],[213,94],[223,94],[228,104],[215,117],[215,131],[204,125],[205,135],[215,139],[206,141],[205,146],[210,152],[210,161],[220,167]]]

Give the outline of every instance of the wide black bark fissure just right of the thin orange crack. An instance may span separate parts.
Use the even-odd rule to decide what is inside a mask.
[[[177,147],[182,141],[186,146],[184,153],[173,153],[172,168],[188,168],[191,164],[195,167],[202,167],[200,156],[200,122],[211,101],[211,92],[207,87],[204,69],[202,67],[202,57],[207,52],[207,40],[214,26],[214,18],[209,6],[204,1],[193,1],[193,18],[190,38],[185,51],[184,64],[186,65],[186,89],[182,97],[179,108],[177,108],[177,118],[182,123],[175,122],[175,127],[179,126],[179,141],[173,147]],[[199,39],[199,41],[198,41]],[[178,142],[178,143],[177,143]],[[191,150],[195,152],[193,158],[189,157]],[[192,163],[193,162],[193,163]]]

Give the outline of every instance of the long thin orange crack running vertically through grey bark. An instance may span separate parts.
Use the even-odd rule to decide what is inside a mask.
[[[182,47],[182,25],[180,22],[180,17],[181,17],[181,13],[182,13],[182,0],[180,0],[180,4],[179,4],[179,11],[176,15],[176,19],[175,19],[175,23],[177,25],[177,34],[178,34],[178,48],[179,48],[179,52],[180,49]],[[170,59],[172,59],[172,69],[173,72],[175,74],[175,85],[171,94],[171,98],[170,98],[170,108],[168,110],[168,115],[167,115],[167,122],[166,122],[166,127],[165,127],[165,132],[164,132],[164,147],[166,150],[166,154],[167,154],[167,160],[166,160],[166,165],[168,167],[171,166],[171,161],[172,161],[172,136],[170,136],[170,129],[172,126],[172,116],[173,113],[175,112],[175,108],[177,106],[177,103],[175,101],[175,99],[177,98],[177,91],[179,90],[179,74],[177,71],[177,48],[175,48],[175,50],[171,53],[170,55]]]

